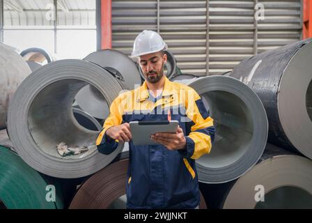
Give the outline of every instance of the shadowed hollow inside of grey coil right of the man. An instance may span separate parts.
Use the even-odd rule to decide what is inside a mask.
[[[204,167],[226,167],[246,153],[253,137],[253,119],[247,105],[233,93],[210,91],[201,95],[214,118],[214,144],[209,155],[196,160]]]

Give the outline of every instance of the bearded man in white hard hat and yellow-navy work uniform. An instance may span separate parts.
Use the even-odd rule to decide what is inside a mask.
[[[127,208],[197,208],[200,202],[195,160],[210,153],[213,120],[194,89],[170,82],[164,75],[167,49],[162,37],[144,30],[134,41],[146,78],[137,89],[118,95],[97,139],[109,154],[129,141]],[[155,146],[134,146],[130,121],[177,120],[176,133],[157,133]]]

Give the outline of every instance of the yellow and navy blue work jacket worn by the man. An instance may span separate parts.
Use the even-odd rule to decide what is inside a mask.
[[[109,154],[118,146],[105,134],[108,128],[130,121],[166,121],[171,114],[185,134],[186,149],[134,146],[130,141],[127,208],[196,208],[200,194],[195,160],[210,153],[213,120],[196,91],[184,84],[165,77],[162,96],[153,102],[149,95],[146,82],[118,95],[96,141],[98,151]]]

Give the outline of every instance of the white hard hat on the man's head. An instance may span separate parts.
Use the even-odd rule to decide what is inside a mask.
[[[144,30],[134,40],[131,56],[141,56],[168,49],[162,37],[155,31]]]

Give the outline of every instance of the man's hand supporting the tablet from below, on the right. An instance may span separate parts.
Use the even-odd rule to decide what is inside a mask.
[[[151,135],[151,139],[157,141],[159,144],[166,146],[171,151],[178,149],[185,149],[187,141],[183,134],[182,128],[178,126],[176,133],[156,133]]]

